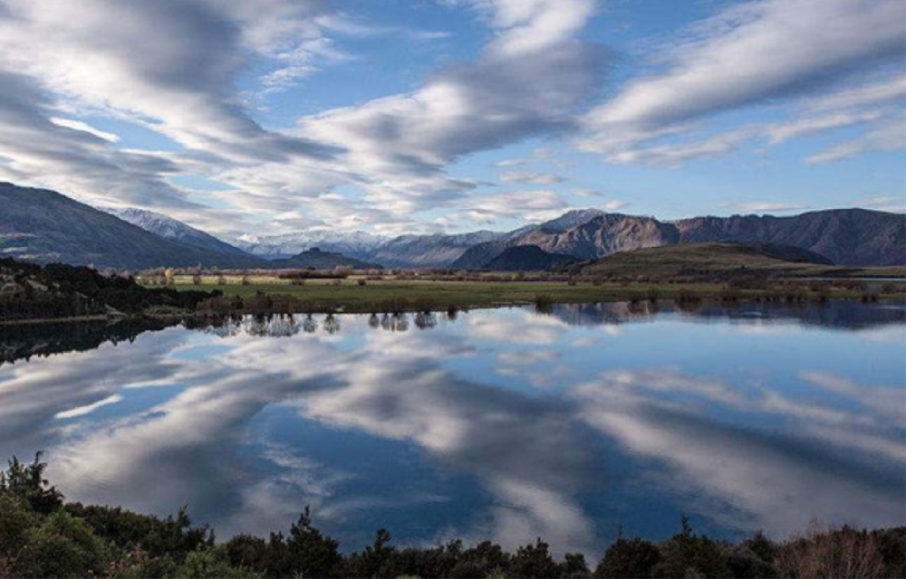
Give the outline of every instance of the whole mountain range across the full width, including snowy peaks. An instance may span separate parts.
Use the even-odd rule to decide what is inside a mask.
[[[0,183],[0,204],[4,207],[0,211],[0,252],[32,261],[98,267],[200,264],[275,268],[316,247],[326,254],[339,253],[340,258],[385,267],[488,269],[507,249],[520,246],[593,260],[614,252],[687,242],[791,245],[845,265],[901,265],[906,261],[906,217],[864,209],[679,221],[583,209],[511,232],[388,237],[320,231],[246,234],[227,243],[165,215],[137,209],[107,209],[116,215],[104,213],[44,189]],[[526,253],[521,257],[538,256]]]

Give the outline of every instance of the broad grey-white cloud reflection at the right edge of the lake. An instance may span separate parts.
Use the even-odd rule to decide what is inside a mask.
[[[708,500],[701,511],[724,525],[786,536],[815,513],[855,524],[896,524],[890,513],[901,511],[901,436],[866,425],[862,414],[797,403],[773,390],[763,397],[745,394],[669,370],[605,374],[573,395],[583,420],[632,453],[659,460],[667,469],[661,484]],[[718,403],[714,412],[701,407],[702,399]],[[746,422],[721,420],[721,405],[786,416],[795,428],[768,436],[741,425]],[[887,468],[874,470],[873,457],[843,464],[833,450],[838,445],[871,451]]]

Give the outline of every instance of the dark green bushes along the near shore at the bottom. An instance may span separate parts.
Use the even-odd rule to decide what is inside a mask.
[[[361,551],[313,525],[305,508],[287,533],[217,542],[186,508],[160,518],[68,503],[44,479],[38,454],[0,470],[0,578],[5,577],[902,577],[906,527],[813,530],[777,542],[761,533],[731,544],[682,519],[660,543],[618,538],[590,563],[554,558],[540,538],[515,552],[490,541],[399,547],[385,529]]]

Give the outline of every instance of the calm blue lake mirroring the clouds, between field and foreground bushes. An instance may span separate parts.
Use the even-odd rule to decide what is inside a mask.
[[[581,305],[7,329],[0,454],[217,536],[345,549],[906,523],[906,310]],[[62,353],[66,350],[69,352]],[[47,355],[49,356],[34,356]],[[30,356],[26,360],[25,356]],[[13,362],[14,360],[14,362]]]

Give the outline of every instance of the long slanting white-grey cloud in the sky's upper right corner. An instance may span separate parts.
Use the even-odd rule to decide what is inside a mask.
[[[814,95],[864,71],[901,62],[904,22],[906,7],[898,0],[731,5],[692,27],[686,38],[671,41],[666,71],[631,81],[592,109],[579,146],[615,162],[661,164],[728,152],[736,138],[718,136],[651,152],[635,149],[649,148],[651,141],[688,131],[720,112]],[[873,94],[886,99],[897,90],[892,83]],[[864,102],[872,91],[850,94]]]

